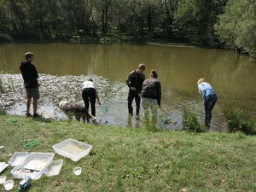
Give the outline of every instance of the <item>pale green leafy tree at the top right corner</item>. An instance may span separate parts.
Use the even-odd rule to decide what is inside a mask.
[[[221,42],[256,54],[256,1],[230,0],[219,19],[215,29]]]

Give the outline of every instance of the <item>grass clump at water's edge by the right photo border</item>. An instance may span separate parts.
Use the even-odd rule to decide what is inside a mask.
[[[225,108],[225,118],[228,122],[229,132],[244,132],[256,134],[256,120],[250,117],[243,109]]]

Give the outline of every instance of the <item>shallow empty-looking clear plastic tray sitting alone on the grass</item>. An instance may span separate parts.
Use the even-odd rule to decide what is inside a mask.
[[[87,156],[92,149],[92,145],[88,145],[81,141],[68,139],[52,146],[54,152],[60,156],[67,157],[72,161],[78,161]]]

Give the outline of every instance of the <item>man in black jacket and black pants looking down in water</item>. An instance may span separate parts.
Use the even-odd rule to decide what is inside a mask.
[[[133,115],[133,108],[132,108],[132,101],[135,98],[136,102],[136,115],[140,115],[140,93],[142,90],[143,81],[145,81],[145,75],[143,72],[145,71],[146,67],[144,64],[140,64],[139,67],[132,71],[127,80],[126,84],[129,86],[129,94],[128,94],[128,110],[129,114]]]

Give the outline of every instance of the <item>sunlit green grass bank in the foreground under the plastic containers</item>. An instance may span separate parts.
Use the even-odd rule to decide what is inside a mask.
[[[256,137],[240,132],[153,133],[0,115],[0,162],[29,140],[41,143],[30,152],[53,152],[52,145],[67,138],[93,145],[92,152],[76,163],[55,155],[64,159],[60,175],[33,180],[30,191],[256,191]],[[81,175],[73,175],[75,166]],[[1,175],[13,179],[10,171]]]

